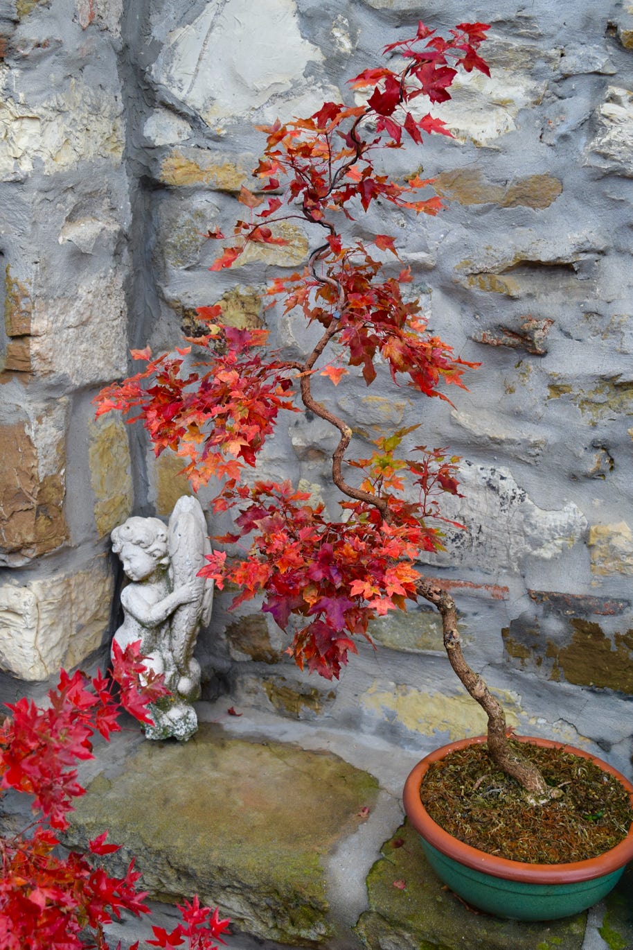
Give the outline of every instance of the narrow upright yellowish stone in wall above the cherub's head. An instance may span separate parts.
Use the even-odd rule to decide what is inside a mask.
[[[127,428],[121,416],[100,416],[89,423],[88,439],[95,524],[102,538],[125,521],[134,503]]]

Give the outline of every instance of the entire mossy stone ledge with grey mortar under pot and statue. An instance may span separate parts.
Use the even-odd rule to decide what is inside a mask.
[[[137,855],[162,925],[197,892],[233,919],[233,950],[633,947],[630,871],[588,918],[548,923],[498,921],[446,890],[400,805],[426,749],[228,706],[199,704],[206,721],[187,744],[130,725],[82,773],[69,841],[107,827],[124,845],[114,866]],[[111,936],[127,947],[148,930],[130,921]]]

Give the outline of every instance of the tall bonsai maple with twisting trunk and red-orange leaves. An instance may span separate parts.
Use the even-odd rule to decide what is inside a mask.
[[[200,307],[206,332],[188,338],[189,349],[177,356],[133,352],[145,369],[103,390],[98,413],[138,409],[156,453],[176,450],[194,488],[212,477],[223,480],[214,511],[237,507],[238,514],[235,532],[217,540],[249,538],[250,549],[242,561],[215,552],[203,573],[220,587],[227,580],[239,585],[233,605],[263,594],[263,609],[283,630],[298,618],[289,653],[302,669],[338,677],[356,651],[354,638],[369,639],[372,618],[406,610],[409,601],[430,601],[456,675],[488,715],[493,760],[542,798],[549,795],[542,775],[509,745],[502,708],[464,659],[454,599],[416,566],[421,552],[442,550],[438,499],[458,494],[458,460],[425,446],[399,458],[412,428],[380,439],[369,458],[349,459],[351,428],[315,394],[319,377],[329,378],[324,386],[337,385],[354,370],[371,385],[380,360],[395,385],[403,379],[450,402],[445,389],[463,387],[463,372],[475,366],[427,332],[419,302],[406,295],[412,275],[400,266],[394,237],[345,243],[344,226],[374,202],[438,214],[431,180],[394,180],[377,168],[376,156],[406,140],[419,145],[427,135],[451,135],[428,106],[450,99],[459,69],[490,74],[478,53],[487,29],[462,23],[445,38],[419,23],[415,36],[384,49],[400,66],[368,68],[350,81],[363,90],[363,104],[326,102],[306,119],[261,127],[267,146],[253,173],[261,186],[257,193],[242,188],[239,201],[248,212],[232,236],[209,232],[224,242],[211,271],[231,268],[251,244],[285,244],[280,222],[306,222],[316,236],[307,266],[275,277],[267,291],[285,314],[303,311],[308,324],[321,328],[305,359],[269,352],[266,330],[222,326],[220,306]],[[395,269],[383,263],[385,255]],[[195,371],[184,359],[191,347],[204,352]],[[343,499],[339,521],[288,482],[240,481],[245,466],[256,465],[279,412],[302,409],[338,430],[331,477]]]

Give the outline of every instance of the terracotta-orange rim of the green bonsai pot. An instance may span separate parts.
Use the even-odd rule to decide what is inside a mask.
[[[631,804],[633,804],[633,785],[624,778],[621,772],[608,765],[602,759],[596,758],[595,755],[591,755],[582,749],[575,749],[567,743],[552,742],[550,739],[519,735],[515,735],[513,738],[519,742],[527,742],[535,746],[543,746],[549,749],[562,749],[567,752],[572,752],[581,758],[589,759],[595,763],[595,765],[599,766],[599,768],[610,772],[611,775],[615,775],[629,793]],[[419,799],[419,787],[422,784],[424,775],[433,762],[445,758],[449,752],[466,749],[468,746],[483,742],[487,742],[487,736],[477,735],[468,739],[459,739],[457,742],[442,746],[429,755],[426,755],[409,774],[404,785],[404,810],[411,824],[430,845],[433,845],[442,854],[452,858],[459,864],[472,867],[476,871],[491,874],[495,878],[505,878],[507,881],[535,884],[592,881],[594,878],[600,878],[605,874],[610,874],[618,870],[633,858],[633,824],[629,827],[626,838],[624,838],[624,841],[619,845],[605,851],[604,854],[599,855],[597,858],[589,858],[586,861],[576,861],[569,864],[524,864],[519,861],[510,861],[507,858],[499,858],[493,854],[486,854],[485,851],[479,851],[476,847],[471,847],[471,845],[465,845],[463,842],[457,841],[453,835],[444,831],[443,828],[433,821]]]

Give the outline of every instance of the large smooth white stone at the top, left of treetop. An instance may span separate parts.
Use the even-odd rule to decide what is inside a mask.
[[[294,0],[211,0],[170,33],[152,78],[218,130],[255,113],[271,121],[315,111],[331,90],[304,73],[322,60],[299,31]]]

